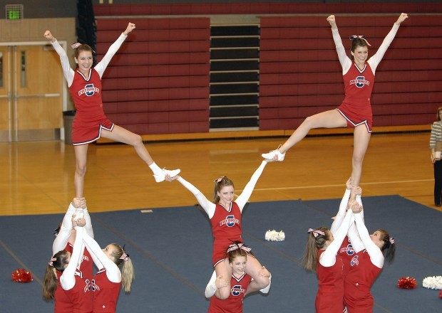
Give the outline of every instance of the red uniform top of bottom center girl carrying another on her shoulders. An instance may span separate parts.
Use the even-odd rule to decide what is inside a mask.
[[[240,278],[232,275],[230,295],[225,300],[210,298],[209,313],[242,313],[242,300],[252,277],[244,273]]]

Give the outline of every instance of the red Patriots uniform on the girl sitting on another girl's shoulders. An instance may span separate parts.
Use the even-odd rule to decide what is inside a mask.
[[[216,203],[215,214],[210,218],[213,234],[212,264],[224,260],[226,251],[235,241],[242,242],[241,234],[241,211],[235,202],[230,203],[226,209]]]

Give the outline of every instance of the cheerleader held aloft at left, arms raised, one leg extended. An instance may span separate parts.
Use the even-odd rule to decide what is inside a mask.
[[[171,176],[180,173],[179,169],[168,171],[160,169],[155,164],[148,150],[143,144],[143,140],[138,134],[129,132],[123,127],[113,124],[106,117],[103,110],[101,78],[106,67],[111,62],[113,55],[118,51],[128,34],[135,29],[134,23],[128,23],[128,27],[121,33],[120,37],[109,47],[108,52],[103,59],[93,66],[92,53],[95,51],[86,44],[73,43],[72,48],[75,49],[76,70],[71,69],[69,65],[68,55],[60,46],[56,38],[53,37],[51,31],[46,31],[44,37],[51,41],[61,59],[61,67],[63,68],[64,77],[68,83],[69,91],[76,107],[76,117],[72,124],[72,142],[76,156],[76,172],[74,176],[74,184],[76,197],[83,197],[84,176],[86,174],[86,161],[88,154],[88,145],[100,137],[130,144],[135,148],[138,156],[145,161],[153,171],[155,181],[164,181],[165,174]]]

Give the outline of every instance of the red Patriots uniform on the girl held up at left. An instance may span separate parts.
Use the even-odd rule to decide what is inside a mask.
[[[72,123],[73,145],[95,142],[101,129],[112,131],[113,122],[104,113],[101,78],[95,68],[89,70],[87,78],[76,70],[69,91],[77,110]]]

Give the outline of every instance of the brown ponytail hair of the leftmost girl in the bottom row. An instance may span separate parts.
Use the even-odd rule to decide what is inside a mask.
[[[46,267],[46,272],[44,273],[43,278],[43,299],[45,301],[54,299],[55,292],[57,290],[58,278],[57,278],[57,270],[58,272],[63,272],[63,270],[68,265],[68,256],[71,255],[66,250],[58,251],[52,258],[56,260],[52,261],[52,265],[48,265]]]

